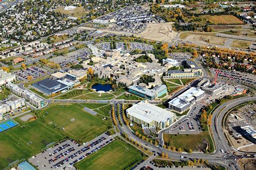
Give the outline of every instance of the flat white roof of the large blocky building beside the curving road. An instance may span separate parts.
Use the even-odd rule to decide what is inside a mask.
[[[154,104],[147,103],[146,101],[132,105],[131,108],[127,109],[127,112],[130,115],[136,116],[146,122],[166,122],[168,118],[175,116],[173,112],[159,108]]]

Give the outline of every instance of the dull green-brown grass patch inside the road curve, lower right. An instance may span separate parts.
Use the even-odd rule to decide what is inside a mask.
[[[210,134],[207,130],[207,125],[204,126],[205,131],[199,134],[165,134],[164,141],[166,146],[175,146],[176,148],[181,147],[183,151],[188,151],[190,148],[192,150],[197,150],[197,147],[205,139],[210,144],[210,150],[214,150],[213,142],[211,140]]]

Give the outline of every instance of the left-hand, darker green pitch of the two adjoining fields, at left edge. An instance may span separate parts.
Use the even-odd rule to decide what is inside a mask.
[[[0,169],[17,159],[29,158],[52,141],[64,138],[62,133],[44,124],[41,119],[24,123],[16,118],[15,121],[19,126],[0,133]],[[28,145],[30,141],[32,143]]]

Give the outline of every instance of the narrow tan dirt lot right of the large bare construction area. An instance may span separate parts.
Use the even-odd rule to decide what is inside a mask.
[[[205,41],[210,44],[218,44],[218,45],[224,45],[224,42],[226,41],[225,38],[219,38],[219,37],[212,37],[212,36],[200,36],[200,35],[194,35],[191,34],[185,38],[185,40],[188,41]]]

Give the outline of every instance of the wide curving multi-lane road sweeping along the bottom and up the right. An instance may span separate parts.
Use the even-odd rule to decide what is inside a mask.
[[[224,167],[228,167],[228,165],[231,165],[231,167],[228,167],[229,169],[240,169],[237,162],[234,161],[234,159],[238,158],[238,157],[236,157],[232,153],[229,153],[229,154],[224,153],[223,154],[220,152],[220,149],[223,149],[224,151],[237,152],[237,151],[233,150],[232,147],[227,144],[226,138],[225,138],[224,133],[221,128],[221,122],[222,122],[222,119],[223,119],[226,111],[233,108],[235,105],[239,105],[241,103],[244,103],[247,101],[254,101],[254,100],[256,100],[256,96],[253,96],[253,97],[246,96],[246,97],[236,98],[227,103],[224,103],[223,105],[220,105],[220,107],[218,107],[213,112],[213,120],[212,120],[213,124],[211,127],[212,127],[212,131],[213,131],[214,141],[217,146],[217,150],[215,153],[210,153],[210,154],[178,153],[178,152],[168,151],[168,150],[165,150],[164,148],[161,148],[160,146],[154,146],[150,143],[146,143],[146,141],[138,138],[131,131],[131,129],[128,128],[127,126],[122,127],[118,124],[118,128],[122,133],[127,134],[130,138],[132,138],[133,140],[136,140],[136,141],[138,141],[138,143],[142,144],[142,146],[144,146],[147,150],[156,151],[157,153],[161,153],[161,152],[168,153],[172,159],[176,159],[176,160],[192,160],[193,158],[204,159],[204,160],[208,160],[208,162],[210,162],[212,164],[218,164],[218,165],[222,165]],[[238,153],[240,153],[240,152],[238,152]],[[187,158],[180,158],[180,156],[184,156]],[[232,165],[232,163],[234,164],[234,166]]]

